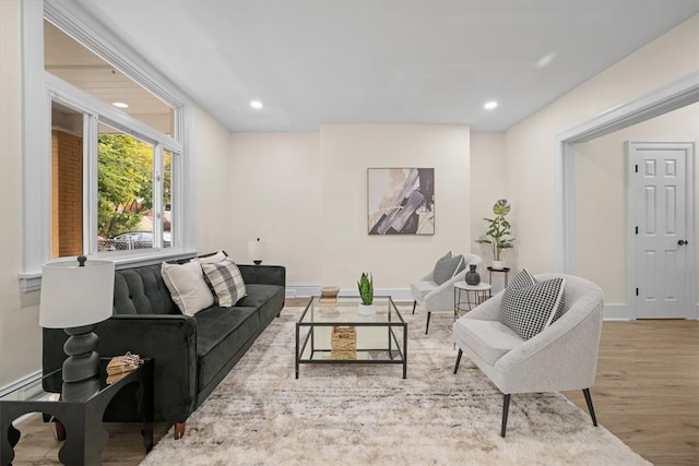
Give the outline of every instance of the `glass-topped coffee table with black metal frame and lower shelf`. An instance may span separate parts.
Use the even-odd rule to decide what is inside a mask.
[[[359,298],[311,298],[296,322],[296,379],[300,365],[402,365],[407,375],[407,324],[390,297],[375,297],[376,313],[362,315]]]

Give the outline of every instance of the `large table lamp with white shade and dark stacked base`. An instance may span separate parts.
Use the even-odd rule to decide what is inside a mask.
[[[114,262],[86,261],[84,255],[43,267],[39,325],[70,335],[63,345],[64,401],[84,401],[99,391],[99,338],[93,330],[111,316],[114,271]]]

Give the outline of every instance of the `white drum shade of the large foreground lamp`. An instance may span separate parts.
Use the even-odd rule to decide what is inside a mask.
[[[42,275],[39,325],[70,328],[105,321],[114,307],[114,262],[50,262]]]

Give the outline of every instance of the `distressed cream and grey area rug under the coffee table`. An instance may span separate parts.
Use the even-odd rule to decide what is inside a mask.
[[[647,465],[558,393],[502,395],[464,357],[457,374],[452,320],[401,308],[407,379],[399,365],[301,365],[286,308],[206,402],[187,432],[162,439],[144,465]],[[594,399],[593,399],[594,402]]]

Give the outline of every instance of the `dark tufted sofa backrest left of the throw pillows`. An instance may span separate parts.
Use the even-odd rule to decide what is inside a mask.
[[[115,272],[115,314],[180,314],[161,275],[161,264]]]

